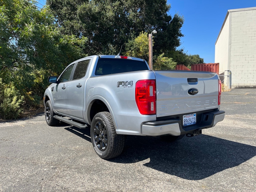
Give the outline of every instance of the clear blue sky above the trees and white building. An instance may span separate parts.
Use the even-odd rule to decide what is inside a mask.
[[[46,0],[39,3],[45,4]],[[215,42],[229,9],[256,7],[256,0],[167,0],[170,14],[184,17],[181,38],[187,54],[198,54],[205,63],[214,63]],[[39,5],[40,6],[40,5]]]

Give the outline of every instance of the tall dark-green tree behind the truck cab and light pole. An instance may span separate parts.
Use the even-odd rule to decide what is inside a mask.
[[[63,34],[88,37],[89,55],[119,52],[142,31],[156,29],[154,54],[180,45],[183,17],[168,14],[166,0],[47,0]],[[111,48],[111,49],[110,49]],[[127,50],[127,49],[126,49]]]

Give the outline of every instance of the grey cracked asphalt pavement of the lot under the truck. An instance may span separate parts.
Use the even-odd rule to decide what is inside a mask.
[[[99,158],[90,130],[44,114],[0,122],[0,191],[256,191],[256,89],[222,92],[224,121],[168,143],[127,136]]]

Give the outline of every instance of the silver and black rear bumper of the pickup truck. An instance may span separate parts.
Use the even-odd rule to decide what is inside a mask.
[[[171,118],[163,121],[148,122],[142,125],[142,135],[158,136],[158,135],[184,135],[195,130],[207,129],[215,126],[225,117],[225,111],[213,111],[200,114],[201,119],[190,126],[182,126],[180,119]]]

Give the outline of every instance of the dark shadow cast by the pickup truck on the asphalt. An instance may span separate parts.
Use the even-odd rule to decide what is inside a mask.
[[[90,129],[65,129],[91,142]],[[128,164],[149,158],[150,161],[144,164],[146,167],[183,179],[201,180],[236,167],[254,156],[255,146],[204,134],[184,137],[174,143],[160,137],[127,135],[123,153],[108,161]]]

